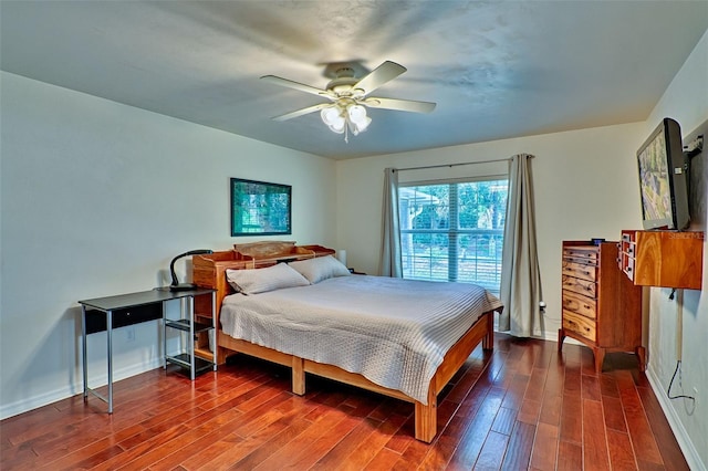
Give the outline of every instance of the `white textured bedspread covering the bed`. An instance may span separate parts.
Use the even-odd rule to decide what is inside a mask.
[[[223,300],[235,338],[339,366],[427,404],[447,350],[501,302],[487,290],[383,276],[340,276],[309,286]]]

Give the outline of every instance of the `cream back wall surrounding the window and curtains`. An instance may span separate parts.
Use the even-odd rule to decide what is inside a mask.
[[[535,188],[539,261],[546,338],[556,339],[561,318],[561,242],[605,238],[641,224],[634,155],[643,125],[600,127],[492,143],[341,161],[337,165],[337,240],[360,271],[378,269],[385,167],[416,167],[504,159],[529,153]],[[496,165],[498,167],[498,165]],[[454,167],[457,175],[482,165]],[[406,172],[400,174],[400,178]]]

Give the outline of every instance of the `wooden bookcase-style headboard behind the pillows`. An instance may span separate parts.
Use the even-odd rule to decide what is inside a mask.
[[[191,258],[192,283],[197,286],[217,290],[215,326],[220,329],[219,314],[223,297],[233,293],[226,280],[226,271],[262,269],[280,262],[313,259],[333,255],[335,251],[322,245],[295,245],[295,242],[267,241],[235,244],[233,250],[214,252]],[[195,299],[195,315],[201,318],[211,317],[211,300],[209,296]]]

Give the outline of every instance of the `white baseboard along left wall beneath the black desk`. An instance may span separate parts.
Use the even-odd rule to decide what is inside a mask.
[[[162,366],[162,358],[155,358],[149,363],[116,369],[113,371],[113,381],[119,381],[121,379],[129,378],[131,376],[139,375],[140,373],[149,371],[150,369],[159,368]],[[0,406],[0,420],[82,394],[84,390],[82,381],[83,379],[80,379],[79,383],[74,383],[73,385],[64,388],[28,397],[13,404]],[[108,384],[108,374],[106,373],[104,375],[92,377],[90,384],[93,388],[105,386]]]

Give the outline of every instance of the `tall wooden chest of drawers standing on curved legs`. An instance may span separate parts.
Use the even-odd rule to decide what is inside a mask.
[[[617,242],[564,241],[562,253],[562,322],[559,352],[565,337],[592,348],[595,371],[608,352],[634,352],[646,366],[642,346],[642,287],[617,265]]]

